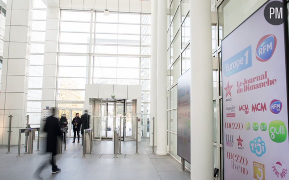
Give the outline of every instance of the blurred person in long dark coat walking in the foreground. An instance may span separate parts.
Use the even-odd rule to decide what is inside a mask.
[[[55,118],[54,108],[51,110],[52,115],[46,119],[44,131],[47,133],[47,147],[46,151],[52,153],[51,165],[52,174],[58,173],[61,170],[56,165],[56,149],[57,149],[57,136],[61,136],[61,130],[58,124],[58,119]]]

